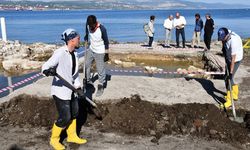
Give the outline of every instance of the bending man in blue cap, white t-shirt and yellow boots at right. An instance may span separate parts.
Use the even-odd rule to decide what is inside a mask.
[[[234,100],[238,100],[239,87],[234,83],[234,76],[240,66],[241,60],[243,59],[243,46],[240,36],[227,28],[220,28],[218,30],[218,40],[222,41],[222,51],[226,62],[225,83],[227,95],[225,96],[226,102],[224,103],[224,106],[225,108],[228,108],[232,105],[231,96]],[[232,95],[230,94],[229,81],[232,86]]]

